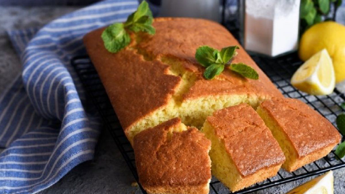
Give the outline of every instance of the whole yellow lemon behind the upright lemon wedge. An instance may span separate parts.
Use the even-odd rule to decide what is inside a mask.
[[[302,35],[299,57],[308,60],[315,53],[326,49],[331,56],[336,82],[345,79],[345,26],[334,21],[317,23]]]

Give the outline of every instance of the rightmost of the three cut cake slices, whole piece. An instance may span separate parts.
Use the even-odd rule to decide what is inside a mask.
[[[266,100],[257,112],[283,149],[282,167],[289,172],[326,156],[341,140],[325,117],[300,100]]]

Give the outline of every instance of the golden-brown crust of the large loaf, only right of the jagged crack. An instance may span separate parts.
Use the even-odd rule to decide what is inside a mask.
[[[184,61],[184,67],[193,69],[202,75],[204,68],[200,68],[195,59],[198,47],[208,45],[220,50],[221,48],[238,45],[238,41],[223,26],[213,21],[188,18],[157,18],[154,22],[155,36],[142,35],[137,48],[146,53],[160,57],[173,56]],[[158,46],[159,45],[159,46]],[[255,64],[247,52],[240,47],[233,63],[243,62],[253,67],[259,74],[259,80],[246,79],[235,72],[225,69],[219,76],[221,80],[199,80],[185,94],[185,99],[218,94],[256,94],[258,96],[277,96],[282,94],[275,88],[263,71]]]

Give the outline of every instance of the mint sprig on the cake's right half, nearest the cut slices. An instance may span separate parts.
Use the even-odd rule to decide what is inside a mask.
[[[222,48],[220,51],[209,46],[201,46],[196,50],[195,58],[200,65],[206,67],[204,77],[213,79],[228,67],[243,77],[249,79],[258,79],[259,75],[252,67],[239,63],[231,64],[232,59],[237,55],[238,46]]]

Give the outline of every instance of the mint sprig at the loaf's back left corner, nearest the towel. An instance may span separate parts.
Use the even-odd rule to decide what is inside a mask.
[[[137,11],[130,14],[125,23],[114,23],[102,32],[102,40],[109,52],[118,52],[130,43],[128,31],[146,32],[150,35],[156,33],[152,26],[153,17],[148,3],[144,0],[138,6]]]

